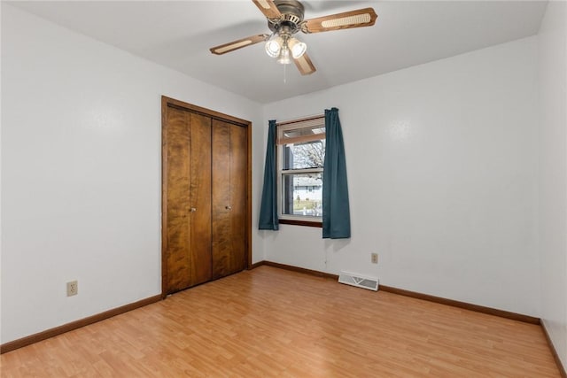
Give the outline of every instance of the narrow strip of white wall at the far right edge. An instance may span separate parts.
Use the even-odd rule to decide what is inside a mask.
[[[567,368],[567,3],[540,28],[541,320]]]

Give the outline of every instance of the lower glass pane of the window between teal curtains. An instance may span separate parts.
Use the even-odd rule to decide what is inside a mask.
[[[282,213],[322,216],[322,173],[282,175]]]

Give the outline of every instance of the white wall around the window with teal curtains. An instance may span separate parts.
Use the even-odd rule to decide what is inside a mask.
[[[538,316],[537,48],[530,37],[266,105],[265,124],[338,107],[353,228],[337,241],[264,231],[266,258]]]

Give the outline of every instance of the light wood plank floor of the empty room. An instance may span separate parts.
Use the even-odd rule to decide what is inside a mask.
[[[539,326],[260,266],[5,353],[2,377],[558,377]]]

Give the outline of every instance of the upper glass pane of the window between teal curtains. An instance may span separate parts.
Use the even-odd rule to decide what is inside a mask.
[[[322,168],[325,140],[283,146],[283,169]]]

